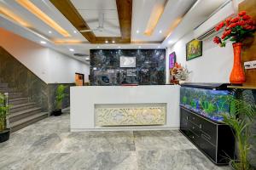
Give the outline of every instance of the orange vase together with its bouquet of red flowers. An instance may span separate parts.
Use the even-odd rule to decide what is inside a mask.
[[[245,75],[241,65],[241,46],[243,40],[253,36],[253,32],[256,30],[255,20],[252,20],[252,17],[247,15],[245,11],[241,11],[236,17],[230,17],[215,27],[216,31],[222,29],[224,29],[223,35],[214,37],[213,42],[220,47],[225,47],[227,40],[234,42],[234,65],[230,73],[230,82],[232,84],[241,84],[245,82]]]

